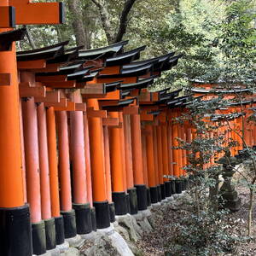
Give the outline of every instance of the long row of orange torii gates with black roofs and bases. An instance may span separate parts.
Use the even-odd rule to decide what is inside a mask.
[[[145,47],[124,52],[127,41],[16,53],[26,31],[12,30],[15,20],[58,24],[63,7],[0,0],[1,255],[43,254],[108,228],[115,215],[134,215],[181,193],[170,177],[186,176],[187,152],[172,147],[176,137],[189,143],[195,131],[174,119],[188,97],[147,89],[181,55],[137,61]],[[255,131],[246,132],[250,146]]]

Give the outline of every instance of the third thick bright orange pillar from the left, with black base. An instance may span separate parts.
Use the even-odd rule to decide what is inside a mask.
[[[110,117],[119,119],[118,112],[110,112]],[[120,123],[120,125],[123,125]],[[125,166],[123,162],[121,142],[121,128],[109,127],[109,153],[112,177],[112,198],[114,202],[115,214],[125,215],[128,213],[126,200],[126,178]],[[129,201],[130,202],[130,201]]]

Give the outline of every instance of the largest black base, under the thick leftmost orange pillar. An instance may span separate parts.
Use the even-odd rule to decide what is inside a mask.
[[[0,254],[32,256],[29,207],[0,208]]]

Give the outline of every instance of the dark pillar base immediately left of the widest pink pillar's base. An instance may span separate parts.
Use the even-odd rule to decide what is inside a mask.
[[[72,210],[70,212],[61,212],[64,222],[65,238],[72,238],[77,236],[76,214]]]

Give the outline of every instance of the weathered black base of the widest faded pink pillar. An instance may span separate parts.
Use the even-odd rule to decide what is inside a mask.
[[[92,231],[90,218],[90,203],[73,203],[73,209],[76,215],[77,233],[79,235],[89,234]]]

